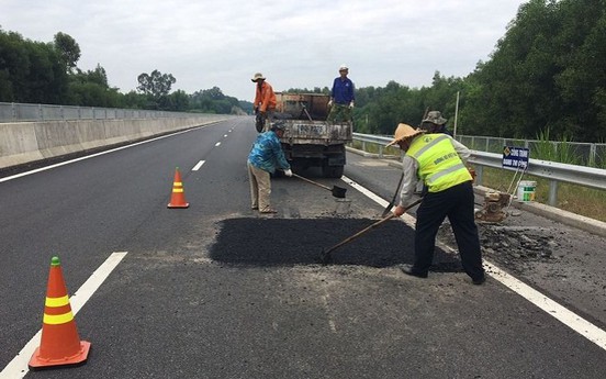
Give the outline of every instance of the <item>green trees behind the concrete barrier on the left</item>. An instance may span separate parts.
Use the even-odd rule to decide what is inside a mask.
[[[142,73],[137,90],[122,93],[110,87],[101,65],[81,70],[79,58],[80,46],[68,34],[59,32],[53,42],[42,43],[0,27],[0,101],[221,114],[245,113],[243,109],[252,107],[217,87],[171,92],[177,79],[158,70]]]

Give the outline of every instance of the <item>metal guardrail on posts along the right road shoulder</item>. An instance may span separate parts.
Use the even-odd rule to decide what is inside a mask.
[[[385,157],[385,153],[388,152],[385,145],[392,141],[392,137],[354,133],[354,141],[360,142],[362,144],[362,149],[364,151],[366,144],[377,145],[379,149],[378,156]],[[500,147],[500,151],[502,149],[503,146]],[[394,152],[397,151],[394,149]],[[505,169],[508,171],[515,171],[515,169],[504,168],[502,165],[502,154],[472,151],[469,163],[474,165],[476,172],[475,182],[479,185],[482,183],[483,167],[492,167]],[[582,187],[606,190],[606,170],[601,168],[568,165],[530,158],[528,160],[528,168],[525,172],[549,180],[548,202],[552,207],[556,207],[558,203],[559,182],[569,182]]]

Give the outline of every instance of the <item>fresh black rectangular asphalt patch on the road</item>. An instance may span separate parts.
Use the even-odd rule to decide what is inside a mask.
[[[377,220],[369,219],[229,219],[220,223],[211,247],[215,261],[250,266],[321,264],[321,253]],[[390,267],[412,264],[414,231],[389,221],[330,253],[330,265]],[[461,271],[457,255],[436,248],[431,271]]]

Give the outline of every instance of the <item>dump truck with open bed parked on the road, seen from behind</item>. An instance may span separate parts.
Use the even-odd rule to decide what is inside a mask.
[[[277,92],[276,100],[276,119],[287,124],[282,148],[293,171],[319,167],[324,177],[340,178],[352,123],[326,121],[328,94]]]

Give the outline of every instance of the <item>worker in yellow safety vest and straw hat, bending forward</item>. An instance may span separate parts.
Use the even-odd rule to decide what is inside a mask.
[[[448,134],[425,134],[423,130],[407,124],[397,125],[394,140],[389,145],[393,144],[406,152],[402,160],[404,179],[400,204],[394,214],[404,214],[404,207],[411,203],[417,180],[423,180],[428,189],[416,212],[414,264],[404,266],[402,271],[427,278],[434,259],[436,234],[448,216],[463,269],[474,285],[482,285],[485,274],[473,214],[472,178],[464,165],[470,151]]]

